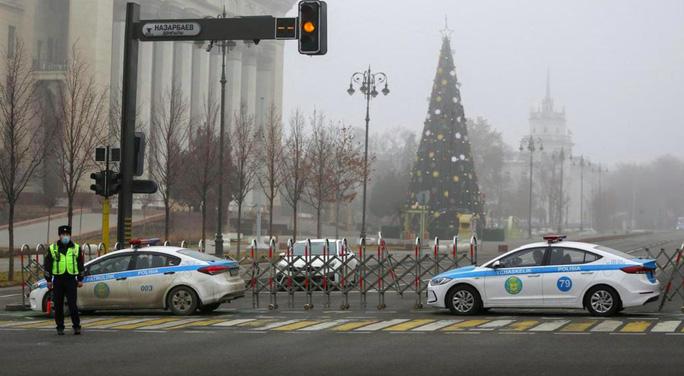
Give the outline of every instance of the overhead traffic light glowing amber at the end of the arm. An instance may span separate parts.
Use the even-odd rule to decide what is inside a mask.
[[[299,53],[325,55],[328,52],[327,4],[325,1],[299,2]]]

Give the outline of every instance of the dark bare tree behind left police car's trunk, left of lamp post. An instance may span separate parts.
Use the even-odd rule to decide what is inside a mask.
[[[206,244],[207,201],[211,187],[218,181],[218,148],[216,122],[219,119],[216,103],[206,107],[204,119],[190,135],[188,150],[183,153],[183,182],[192,201],[202,211],[202,244]]]

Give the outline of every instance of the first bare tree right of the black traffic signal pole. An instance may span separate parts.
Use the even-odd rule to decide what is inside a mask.
[[[182,173],[182,148],[188,137],[188,104],[183,90],[175,84],[163,95],[167,106],[157,106],[152,116],[150,175],[159,186],[164,201],[164,239],[169,239],[171,199]]]

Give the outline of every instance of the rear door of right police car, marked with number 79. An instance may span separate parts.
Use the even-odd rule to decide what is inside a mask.
[[[544,305],[572,307],[582,304],[582,293],[594,278],[584,265],[600,256],[581,249],[553,246],[549,251],[552,273],[543,275]]]

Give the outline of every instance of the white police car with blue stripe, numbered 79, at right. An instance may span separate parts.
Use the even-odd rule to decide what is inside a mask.
[[[441,273],[428,285],[428,304],[457,315],[483,308],[586,308],[610,316],[658,300],[654,260],[637,259],[596,244],[563,241],[528,244],[482,266]]]

